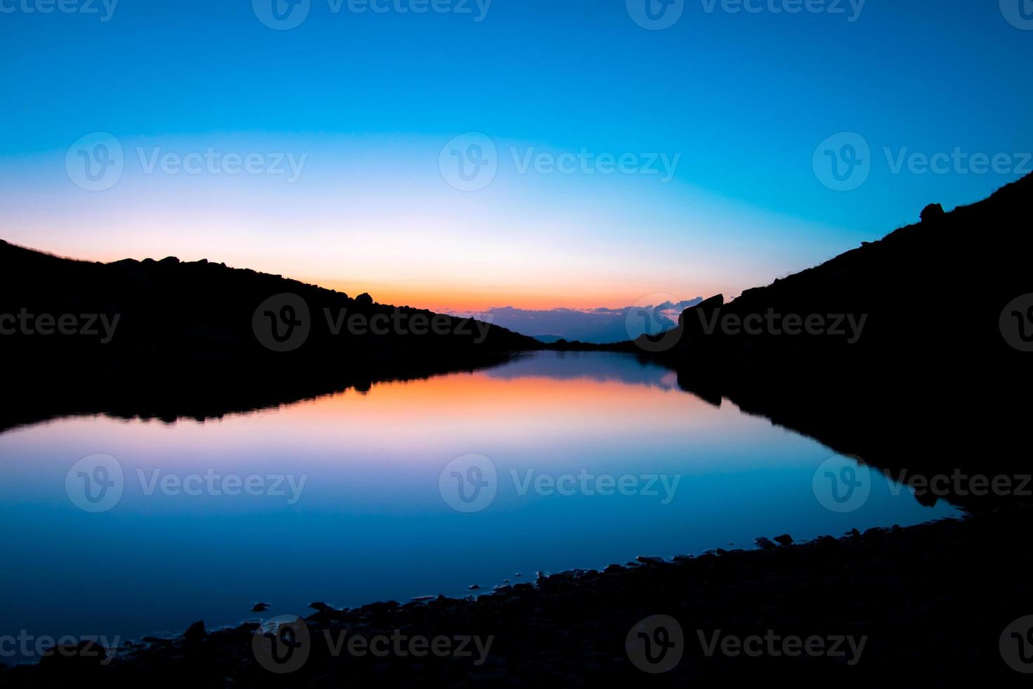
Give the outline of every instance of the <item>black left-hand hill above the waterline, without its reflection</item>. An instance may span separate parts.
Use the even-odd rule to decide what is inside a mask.
[[[27,335],[21,328],[2,346],[36,357],[60,352],[108,361],[164,355],[178,361],[384,357],[401,352],[453,354],[471,347],[491,351],[533,349],[538,344],[505,328],[408,306],[373,302],[280,275],[227,268],[208,260],[183,262],[124,259],[99,263],[60,258],[0,242],[0,313],[104,314],[114,336],[96,338]],[[268,351],[256,334],[256,310],[280,294],[303,300],[310,332],[295,350]],[[272,311],[278,305],[271,305]],[[258,320],[262,321],[261,313]],[[274,314],[276,315],[276,314]],[[302,315],[298,314],[301,318]],[[356,318],[352,328],[348,318]],[[379,320],[373,321],[375,317]],[[384,317],[387,320],[384,320]],[[440,327],[431,327],[437,319]],[[426,324],[422,324],[426,321]],[[415,324],[414,324],[415,323]],[[422,327],[416,325],[422,324]],[[337,333],[335,333],[337,328]]]

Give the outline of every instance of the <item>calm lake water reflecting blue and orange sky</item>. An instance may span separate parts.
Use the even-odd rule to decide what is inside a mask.
[[[114,460],[76,464],[94,455]],[[822,467],[833,457],[607,353],[205,424],[41,424],[0,435],[0,634],[138,638],[255,618],[257,601],[272,616],[456,596],[536,570],[952,513],[849,460]],[[867,498],[840,486],[836,502],[834,479]]]

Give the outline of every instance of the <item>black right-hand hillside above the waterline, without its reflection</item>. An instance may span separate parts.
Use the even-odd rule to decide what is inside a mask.
[[[685,364],[720,359],[751,370],[789,364],[806,369],[826,358],[841,366],[906,362],[922,368],[944,359],[952,369],[972,370],[998,357],[1012,359],[1023,352],[1002,337],[1000,318],[1009,302],[1033,292],[1026,265],[1033,248],[1031,200],[1033,176],[971,206],[928,213],[921,222],[747,289],[730,303],[711,297],[682,313],[681,337],[669,336],[667,341],[677,339],[677,345],[662,355]],[[753,316],[756,323],[756,316],[769,312],[780,325],[787,316],[823,317],[826,332],[786,335],[772,332],[766,321],[753,334],[721,327],[728,316],[733,323]],[[839,316],[844,318],[838,330],[845,333],[828,333]],[[853,342],[851,316],[862,324]],[[718,326],[708,332],[715,322]],[[650,343],[641,340],[646,348]]]

